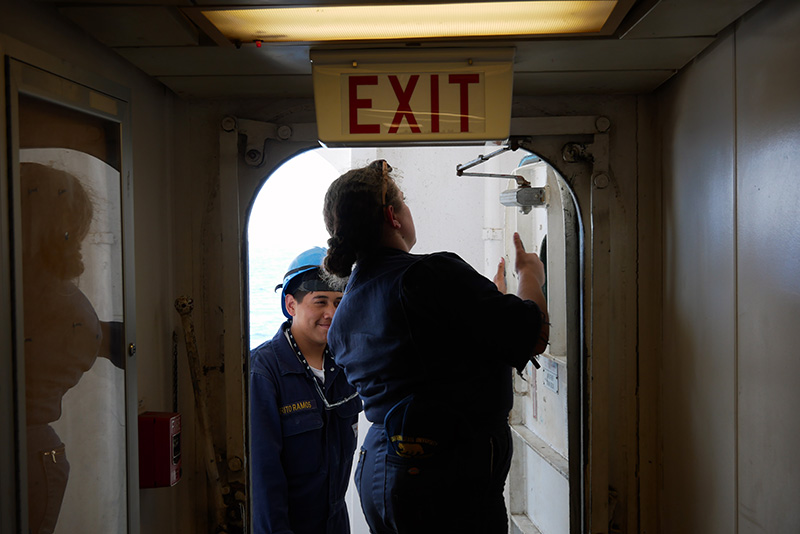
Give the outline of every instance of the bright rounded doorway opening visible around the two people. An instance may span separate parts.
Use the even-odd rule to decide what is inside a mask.
[[[327,231],[322,220],[322,202],[328,185],[347,170],[385,159],[395,169],[406,202],[414,214],[417,244],[413,253],[455,252],[478,272],[491,278],[501,257],[509,265],[509,292],[516,288],[513,278],[511,233],[523,237],[526,249],[547,261],[548,307],[551,313],[551,348],[540,356],[542,368],[526,370],[526,379],[515,380],[515,407],[511,414],[514,431],[514,460],[507,481],[510,532],[555,534],[575,531],[580,515],[569,472],[574,468],[570,443],[570,417],[580,417],[581,392],[572,391],[568,381],[579,354],[579,272],[581,232],[571,192],[551,166],[527,151],[508,151],[482,164],[481,172],[523,174],[534,187],[548,189],[548,207],[524,210],[503,206],[504,190],[518,185],[513,179],[457,176],[459,164],[479,154],[497,150],[494,143],[467,147],[381,147],[328,149],[303,152],[278,167],[265,181],[253,203],[247,228],[249,257],[250,348],[272,339],[284,322],[280,291],[275,286],[291,260],[314,246],[326,246]],[[567,213],[567,215],[565,215]],[[569,288],[569,289],[568,289]],[[569,295],[567,295],[569,293]],[[572,317],[574,321],[569,321]],[[560,328],[560,331],[559,331]],[[580,373],[577,373],[578,375]],[[579,389],[579,388],[578,388]],[[575,395],[576,397],[570,397]],[[577,400],[576,400],[577,399]],[[359,444],[370,423],[361,414]],[[580,428],[580,421],[577,423]],[[579,436],[576,436],[579,438]],[[546,454],[542,451],[546,450]],[[576,478],[580,478],[577,476]],[[548,481],[547,484],[542,483]],[[367,534],[358,495],[351,483],[347,506],[353,534]],[[580,508],[580,500],[577,507]],[[578,527],[579,529],[580,527]]]

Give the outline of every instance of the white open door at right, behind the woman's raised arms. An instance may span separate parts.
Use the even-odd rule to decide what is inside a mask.
[[[525,177],[532,187],[544,187],[546,205],[529,211],[506,208],[505,233],[519,232],[526,250],[539,254],[545,263],[550,344],[539,356],[541,368],[528,365],[522,376],[514,378],[508,505],[512,533],[564,534],[579,529],[581,509],[580,488],[570,488],[570,465],[577,465],[578,472],[581,465],[579,440],[570,440],[570,418],[580,433],[581,234],[566,182],[545,162],[529,159],[534,161],[514,174]],[[516,182],[510,181],[509,187],[516,188]],[[511,261],[513,245],[510,239],[505,242]],[[512,286],[516,281],[509,282],[509,291],[516,290]]]

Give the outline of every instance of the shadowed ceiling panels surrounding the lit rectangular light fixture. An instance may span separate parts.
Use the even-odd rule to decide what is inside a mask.
[[[515,95],[643,94],[668,80],[760,0],[620,0],[609,35],[427,42],[229,42],[200,8],[335,5],[248,0],[44,1],[190,99],[313,96],[313,49],[514,47]],[[469,1],[469,0],[462,0]],[[352,3],[352,2],[351,2]],[[367,2],[360,2],[366,4]],[[369,2],[370,5],[421,1]]]

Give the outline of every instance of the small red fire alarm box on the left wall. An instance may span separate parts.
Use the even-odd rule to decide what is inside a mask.
[[[165,488],[181,479],[181,414],[139,416],[139,487]]]

